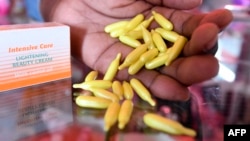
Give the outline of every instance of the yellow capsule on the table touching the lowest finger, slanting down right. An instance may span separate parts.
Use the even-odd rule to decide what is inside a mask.
[[[148,91],[148,89],[136,78],[132,78],[130,80],[130,85],[132,86],[132,88],[135,90],[135,92],[137,93],[137,95],[145,100],[146,102],[148,102],[151,106],[155,106],[156,103],[155,101],[152,99],[150,92]]]

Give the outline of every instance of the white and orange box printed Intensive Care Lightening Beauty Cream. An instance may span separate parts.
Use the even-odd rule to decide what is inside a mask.
[[[2,25],[0,43],[0,94],[71,77],[70,30],[66,25]]]

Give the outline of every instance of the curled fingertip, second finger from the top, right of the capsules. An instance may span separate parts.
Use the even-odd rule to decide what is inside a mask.
[[[191,39],[183,49],[185,56],[210,53],[218,40],[219,29],[215,24],[206,23],[194,30]]]

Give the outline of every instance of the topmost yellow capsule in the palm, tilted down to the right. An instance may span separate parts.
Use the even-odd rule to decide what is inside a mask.
[[[173,24],[160,13],[152,11],[155,21],[166,30],[173,30]]]

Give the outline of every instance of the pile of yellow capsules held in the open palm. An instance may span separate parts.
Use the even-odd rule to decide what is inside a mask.
[[[160,27],[151,29],[155,20]],[[139,14],[129,21],[119,21],[107,25],[104,29],[113,38],[135,48],[130,52],[119,70],[128,67],[128,73],[136,74],[142,67],[155,69],[170,65],[181,53],[187,38],[173,31],[173,24],[160,13],[152,11],[152,16],[144,20]]]

